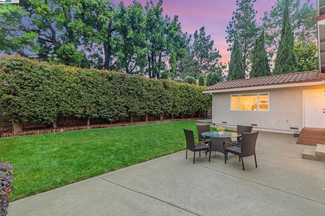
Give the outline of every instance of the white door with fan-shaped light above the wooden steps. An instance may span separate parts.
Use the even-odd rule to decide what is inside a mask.
[[[304,91],[305,127],[325,128],[325,91]]]

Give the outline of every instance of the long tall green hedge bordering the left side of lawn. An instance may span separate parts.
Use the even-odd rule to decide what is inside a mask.
[[[123,117],[168,113],[190,115],[211,107],[204,87],[146,79],[115,71],[55,65],[20,56],[0,57],[0,105],[14,131],[22,122],[75,115],[115,121]],[[16,128],[15,128],[16,127]]]

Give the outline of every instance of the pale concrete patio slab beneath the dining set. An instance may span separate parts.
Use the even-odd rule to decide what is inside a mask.
[[[259,132],[254,157],[185,151],[11,202],[8,215],[324,215],[325,163],[292,134]],[[202,154],[203,155],[203,154]]]

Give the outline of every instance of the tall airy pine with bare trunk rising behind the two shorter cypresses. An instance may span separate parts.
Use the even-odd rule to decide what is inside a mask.
[[[231,47],[235,38],[240,42],[241,50],[242,50],[242,70],[243,77],[246,77],[247,65],[249,65],[249,52],[252,49],[254,39],[258,34],[258,27],[255,19],[255,12],[253,8],[253,3],[256,0],[237,0],[236,12],[233,12],[232,21],[229,22],[227,26],[226,33],[228,36],[226,37],[226,42],[229,44],[229,50],[232,50]]]

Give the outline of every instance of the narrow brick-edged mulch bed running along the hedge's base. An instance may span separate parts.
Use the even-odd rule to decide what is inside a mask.
[[[43,133],[57,133],[64,131],[73,131],[73,130],[86,130],[94,128],[107,128],[107,127],[120,127],[128,125],[140,125],[140,124],[152,124],[152,123],[163,123],[163,122],[173,122],[173,121],[184,121],[184,120],[204,120],[207,118],[190,118],[190,119],[166,119],[166,120],[155,120],[147,122],[122,122],[122,123],[113,123],[113,124],[93,124],[93,125],[70,125],[70,126],[58,126],[58,128],[37,128],[37,129],[24,129],[20,133],[13,133],[11,129],[0,130],[0,138],[13,137],[13,136],[23,136],[23,135],[32,135],[32,134],[43,134]]]

